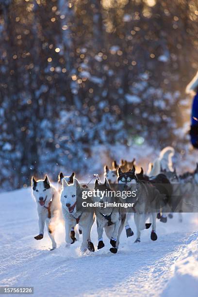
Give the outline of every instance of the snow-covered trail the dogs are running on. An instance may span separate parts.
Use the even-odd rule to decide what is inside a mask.
[[[0,285],[33,286],[35,296],[160,296],[173,274],[175,260],[187,237],[198,229],[198,214],[178,214],[166,224],[157,222],[158,240],[150,240],[150,231],[142,232],[142,242],[135,236],[121,236],[117,254],[110,244],[95,253],[82,254],[80,242],[65,247],[64,228],[59,225],[58,248],[49,251],[47,232],[41,241],[36,205],[31,189],[0,195]],[[132,229],[135,231],[133,218]],[[81,240],[81,238],[80,238]],[[97,247],[96,224],[92,240]]]

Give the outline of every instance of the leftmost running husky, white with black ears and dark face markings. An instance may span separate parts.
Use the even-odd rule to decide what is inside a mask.
[[[32,193],[37,204],[39,235],[35,236],[36,240],[43,238],[45,223],[48,228],[49,237],[52,242],[52,249],[56,248],[54,232],[58,223],[61,211],[59,194],[50,184],[46,175],[45,180],[36,181],[32,177]]]

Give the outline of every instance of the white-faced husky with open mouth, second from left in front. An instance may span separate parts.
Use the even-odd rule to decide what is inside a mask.
[[[76,224],[82,227],[82,245],[81,250],[85,251],[87,248],[90,251],[94,251],[94,245],[91,242],[91,228],[94,223],[94,211],[82,212],[76,210],[77,196],[81,193],[82,188],[79,181],[74,178],[73,184],[68,184],[63,179],[63,188],[61,192],[62,211],[65,219],[66,228],[66,243],[73,244],[76,238],[70,237],[70,230]]]

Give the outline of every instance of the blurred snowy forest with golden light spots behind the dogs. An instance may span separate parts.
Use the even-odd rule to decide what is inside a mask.
[[[176,146],[197,70],[198,0],[0,0],[0,188]]]

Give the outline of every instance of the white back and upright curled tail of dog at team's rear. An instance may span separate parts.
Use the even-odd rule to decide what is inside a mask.
[[[172,147],[163,148],[160,152],[159,158],[155,159],[153,166],[149,165],[147,175],[149,177],[160,174],[161,170],[174,171],[172,164],[172,156],[175,150]]]

